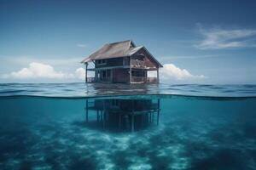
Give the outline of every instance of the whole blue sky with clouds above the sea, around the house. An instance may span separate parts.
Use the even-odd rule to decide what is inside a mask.
[[[0,83],[84,82],[79,62],[132,40],[165,83],[256,83],[256,1],[0,0]]]

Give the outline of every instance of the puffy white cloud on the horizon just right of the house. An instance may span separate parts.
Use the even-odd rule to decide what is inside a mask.
[[[178,68],[173,64],[163,65],[164,67],[160,69],[160,79],[166,80],[175,80],[175,81],[193,81],[201,80],[206,78],[203,75],[192,75],[186,69]]]

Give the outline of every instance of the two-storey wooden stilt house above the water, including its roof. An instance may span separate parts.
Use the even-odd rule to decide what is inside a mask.
[[[89,62],[94,64],[88,68]],[[94,54],[82,60],[85,65],[85,82],[159,82],[160,62],[143,46],[131,40],[105,44]],[[87,77],[94,71],[95,77]],[[148,77],[148,71],[156,71],[156,77]]]

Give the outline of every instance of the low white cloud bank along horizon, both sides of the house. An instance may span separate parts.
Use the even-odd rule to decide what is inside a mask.
[[[93,75],[88,73],[88,77]],[[155,77],[155,72],[148,72],[149,77]],[[32,62],[19,71],[4,74],[2,78],[21,82],[84,82],[84,68],[78,68],[73,72],[56,71],[52,65]],[[186,69],[178,68],[173,64],[166,64],[160,69],[161,82],[195,82],[204,79],[205,76],[193,75]]]

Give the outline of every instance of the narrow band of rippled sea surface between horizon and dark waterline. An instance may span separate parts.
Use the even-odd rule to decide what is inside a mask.
[[[2,83],[0,96],[93,97],[125,94],[181,94],[209,97],[255,97],[256,85]]]

